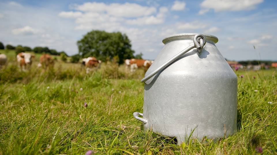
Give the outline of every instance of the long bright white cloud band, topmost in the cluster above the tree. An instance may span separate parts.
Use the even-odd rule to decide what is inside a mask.
[[[155,7],[141,6],[135,3],[98,3],[87,2],[82,5],[75,5],[76,10],[85,12],[107,13],[116,17],[142,17],[156,13]]]

